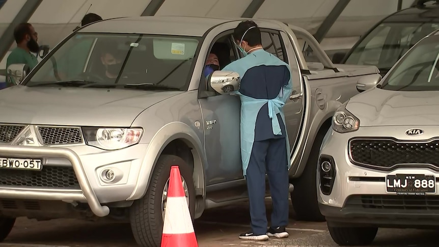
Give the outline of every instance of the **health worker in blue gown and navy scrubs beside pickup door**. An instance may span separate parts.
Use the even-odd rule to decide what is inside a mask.
[[[241,239],[288,237],[288,169],[290,148],[282,107],[292,91],[288,64],[265,51],[261,32],[253,21],[243,21],[233,36],[245,57],[227,65],[241,77],[236,93],[241,99],[241,158],[247,181],[252,230]],[[268,174],[273,211],[267,230],[265,174]]]

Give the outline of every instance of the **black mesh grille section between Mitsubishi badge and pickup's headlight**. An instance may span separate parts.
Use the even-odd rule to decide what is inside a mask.
[[[45,145],[82,143],[83,136],[75,127],[38,127]]]

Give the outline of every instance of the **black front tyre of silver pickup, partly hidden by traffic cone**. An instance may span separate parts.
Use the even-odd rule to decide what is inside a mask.
[[[143,198],[134,201],[130,207],[131,230],[135,241],[140,246],[160,246],[163,230],[163,191],[169,181],[172,166],[178,166],[180,175],[187,185],[185,193],[189,196],[190,216],[195,215],[195,188],[191,168],[175,155],[161,155],[157,161],[151,181]],[[148,178],[145,178],[148,179]]]

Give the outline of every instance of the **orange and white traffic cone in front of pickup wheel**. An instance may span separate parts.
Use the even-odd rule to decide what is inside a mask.
[[[171,167],[161,247],[198,247],[178,166]]]

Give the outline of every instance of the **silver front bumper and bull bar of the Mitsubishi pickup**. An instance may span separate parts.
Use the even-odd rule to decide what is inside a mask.
[[[65,159],[63,166],[74,170],[79,188],[31,187],[0,185],[0,198],[55,200],[87,203],[100,217],[109,214],[102,205],[124,201],[130,197],[138,179],[147,144],[116,151],[104,151],[79,145],[66,147],[30,147],[0,145],[0,157]],[[44,167],[44,164],[43,164]],[[116,171],[116,182],[105,183],[99,176],[104,169]]]

